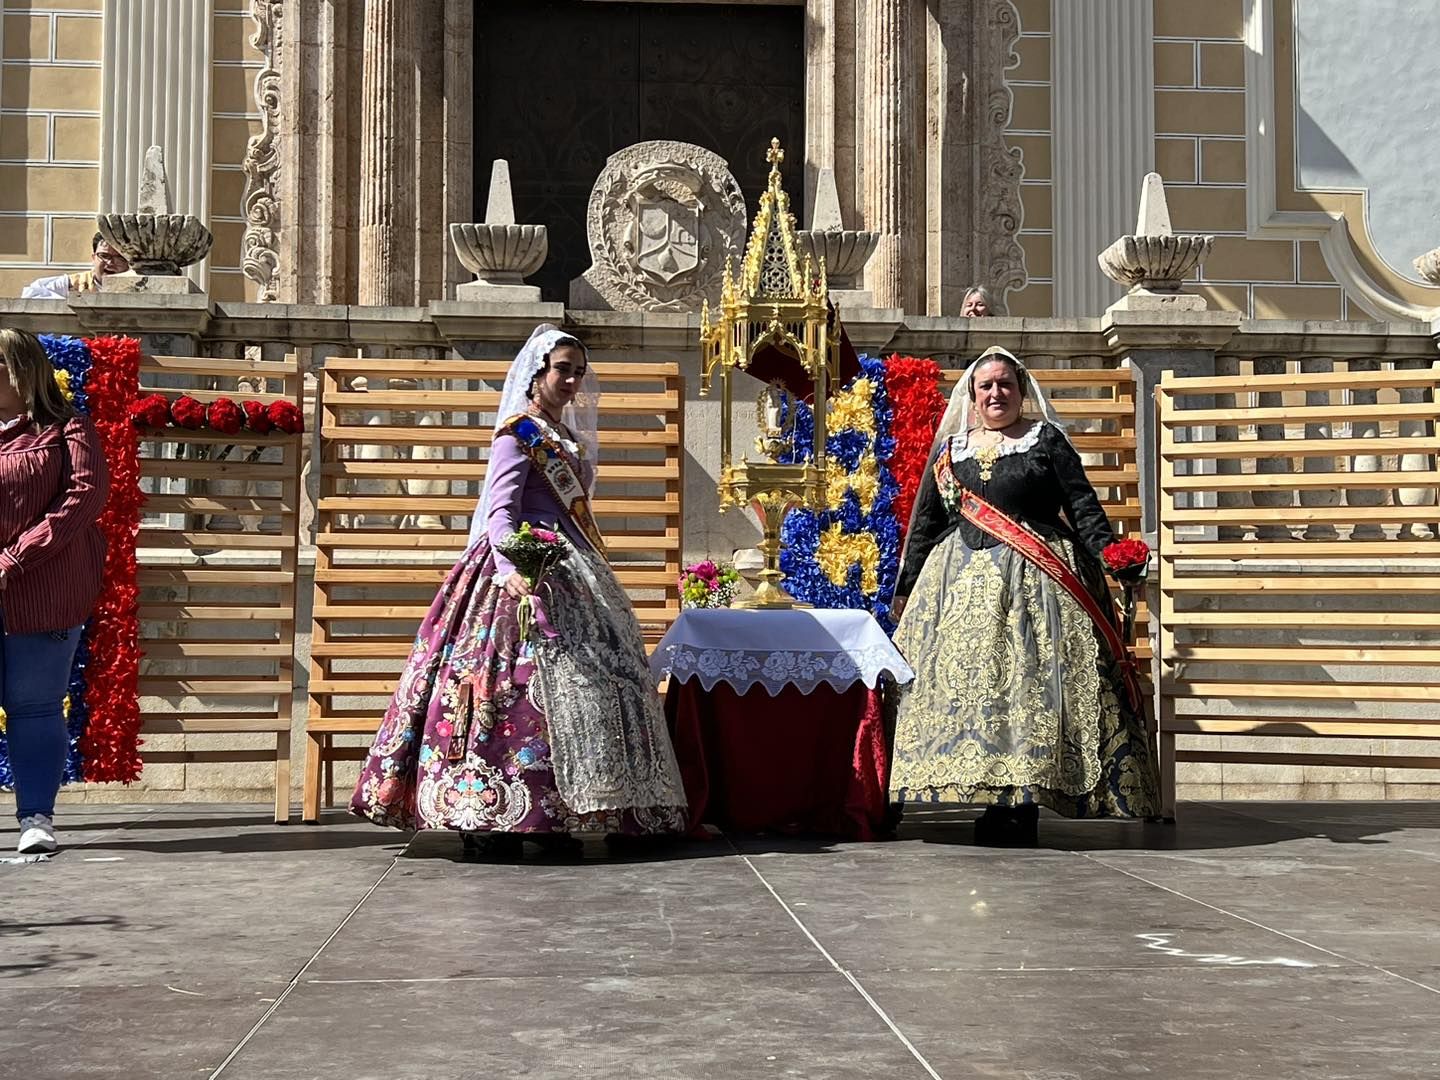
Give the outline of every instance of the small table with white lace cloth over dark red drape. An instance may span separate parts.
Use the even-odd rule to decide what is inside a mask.
[[[651,671],[670,677],[665,717],[693,831],[886,831],[883,680],[914,672],[870,612],[684,611]]]

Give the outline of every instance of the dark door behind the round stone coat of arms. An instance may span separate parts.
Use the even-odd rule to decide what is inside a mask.
[[[789,150],[804,220],[804,40],[798,6],[478,0],[475,220],[503,157],[517,220],[549,228],[550,255],[530,281],[563,301],[590,265],[585,209],[611,154],[652,138],[713,150],[753,213],[772,135]]]

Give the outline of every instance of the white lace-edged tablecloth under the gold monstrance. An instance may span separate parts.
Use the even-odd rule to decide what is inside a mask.
[[[802,694],[821,683],[845,690],[881,675],[904,684],[914,678],[904,657],[864,611],[680,612],[649,658],[655,678],[697,678],[706,690],[729,683],[739,693],[762,685],[772,696],[786,685]]]

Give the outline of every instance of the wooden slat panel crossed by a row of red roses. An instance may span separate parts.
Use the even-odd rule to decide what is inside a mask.
[[[171,400],[301,408],[294,361],[147,356],[140,382]],[[268,762],[276,821],[289,816],[302,438],[166,428],[140,445],[141,734],[164,740],[144,760]]]

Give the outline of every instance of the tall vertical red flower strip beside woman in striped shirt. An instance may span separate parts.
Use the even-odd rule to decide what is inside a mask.
[[[109,498],[99,516],[105,577],[91,616],[85,671],[89,724],[81,739],[86,780],[140,779],[140,432],[130,405],[140,387],[140,343],[131,337],[89,341],[94,366],[86,390],[91,420],[109,467]],[[194,399],[190,399],[194,400]],[[199,405],[199,402],[196,402]]]

